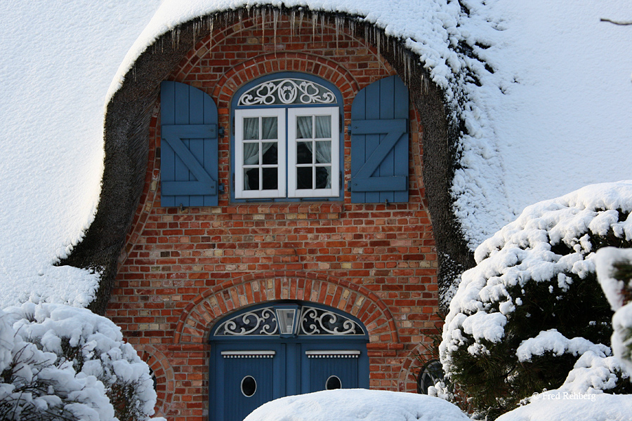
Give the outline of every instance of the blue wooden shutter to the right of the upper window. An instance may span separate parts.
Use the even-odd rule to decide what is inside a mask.
[[[351,105],[352,203],[408,201],[408,89],[390,76]]]

